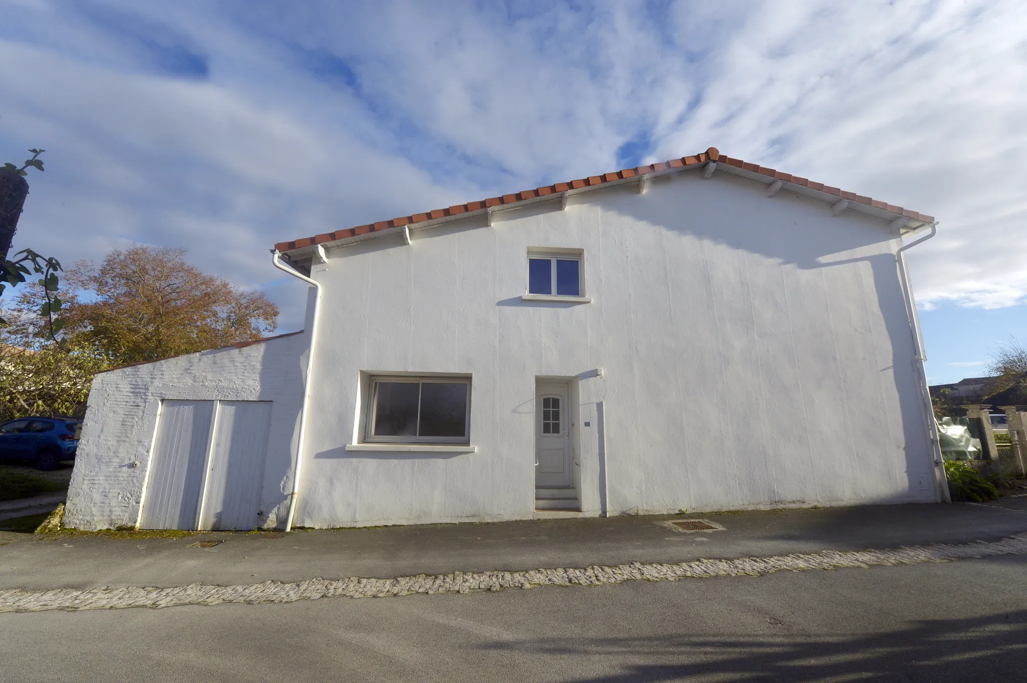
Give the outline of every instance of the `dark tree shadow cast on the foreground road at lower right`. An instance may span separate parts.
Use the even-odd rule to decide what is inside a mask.
[[[854,637],[565,638],[501,643],[489,649],[630,660],[616,674],[565,679],[568,683],[1023,681],[1027,680],[1027,611],[921,620],[907,629]]]

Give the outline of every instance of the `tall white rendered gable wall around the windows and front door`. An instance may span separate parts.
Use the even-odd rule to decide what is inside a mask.
[[[537,375],[580,377],[586,514],[938,499],[886,223],[697,172],[556,206],[314,266],[297,525],[530,518]],[[522,300],[528,247],[583,248],[592,303]],[[472,375],[476,453],[346,450],[360,373],[401,371]]]

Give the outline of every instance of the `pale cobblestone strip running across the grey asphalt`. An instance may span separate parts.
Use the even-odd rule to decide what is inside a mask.
[[[312,578],[306,581],[264,581],[245,586],[191,584],[173,588],[99,588],[89,590],[0,591],[0,612],[38,612],[50,609],[120,609],[124,607],[176,607],[222,603],[295,602],[318,598],[386,598],[414,593],[469,593],[504,588],[530,589],[538,586],[602,586],[626,580],[678,580],[709,576],[759,576],[763,573],[890,566],[920,562],[948,562],[963,558],[1027,554],[1027,535],[998,541],[977,541],[962,546],[913,546],[893,550],[823,551],[737,560],[696,560],[680,564],[618,564],[583,569],[531,569],[528,571],[484,571],[451,574],[418,574],[395,578]]]

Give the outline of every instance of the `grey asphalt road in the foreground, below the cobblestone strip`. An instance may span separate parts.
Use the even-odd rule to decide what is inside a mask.
[[[9,681],[1024,681],[1027,558],[0,614]]]

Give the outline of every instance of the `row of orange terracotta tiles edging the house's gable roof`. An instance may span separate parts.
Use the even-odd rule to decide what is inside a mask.
[[[604,173],[603,175],[589,175],[586,178],[577,178],[575,180],[570,180],[568,183],[555,183],[554,185],[547,185],[541,188],[535,188],[534,190],[524,190],[522,192],[512,195],[503,195],[502,197],[490,197],[488,199],[467,202],[466,204],[456,204],[454,206],[450,206],[449,208],[434,209],[427,213],[414,213],[412,215],[392,218],[391,220],[380,220],[372,225],[356,226],[355,228],[350,228],[348,230],[337,230],[334,233],[324,233],[321,235],[315,235],[314,237],[304,237],[291,242],[278,242],[274,245],[274,248],[277,249],[278,251],[292,251],[293,249],[300,249],[302,247],[311,246],[313,244],[320,244],[322,242],[331,242],[334,240],[343,240],[350,237],[356,237],[357,235],[367,235],[369,233],[374,233],[389,228],[400,228],[403,226],[408,226],[416,223],[423,223],[424,220],[431,220],[432,218],[442,218],[444,216],[459,215],[461,213],[466,213],[468,211],[480,211],[484,208],[491,208],[493,206],[499,206],[502,204],[512,204],[519,201],[525,201],[527,199],[536,199],[538,197],[545,197],[547,195],[566,192],[568,190],[577,190],[585,187],[596,187],[599,185],[603,185],[605,183],[613,183],[615,180],[621,180],[625,178],[636,177],[639,175],[645,175],[647,173],[655,173],[657,171],[668,170],[671,168],[682,168],[687,166],[706,164],[708,161],[711,160],[717,161],[718,163],[724,163],[729,166],[734,166],[736,168],[743,168],[755,173],[759,173],[761,175],[765,175],[767,177],[772,177],[782,180],[784,183],[791,183],[793,185],[798,185],[804,188],[810,188],[811,190],[820,190],[828,194],[832,194],[838,197],[843,197],[849,201],[859,202],[861,204],[866,204],[868,206],[874,206],[879,209],[890,211],[891,213],[899,213],[908,218],[915,218],[917,220],[923,220],[925,223],[934,220],[933,216],[925,215],[923,213],[918,213],[917,211],[906,209],[901,206],[896,206],[893,204],[887,204],[885,202],[878,201],[876,199],[871,199],[870,197],[858,195],[854,192],[845,192],[839,190],[838,188],[825,186],[823,183],[813,183],[808,178],[804,178],[799,175],[792,175],[791,173],[785,173],[783,171],[778,171],[773,168],[767,168],[766,166],[760,166],[759,164],[743,161],[741,159],[733,159],[731,157],[721,154],[720,151],[717,150],[717,148],[711,147],[706,152],[692,155],[689,157],[671,159],[669,161],[649,164],[647,166],[638,166],[636,168],[624,168],[619,171]]]

